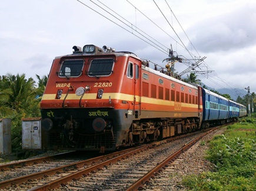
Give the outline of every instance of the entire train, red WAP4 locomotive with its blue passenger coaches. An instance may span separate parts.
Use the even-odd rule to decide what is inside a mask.
[[[52,62],[40,103],[42,148],[113,151],[247,115],[244,105],[151,69],[132,52],[73,49]]]

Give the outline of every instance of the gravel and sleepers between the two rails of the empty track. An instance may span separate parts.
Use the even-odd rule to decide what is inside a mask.
[[[132,155],[117,163],[106,166],[105,168],[90,173],[77,181],[69,182],[55,190],[125,190],[129,185],[145,175],[154,168],[159,162],[177,151],[181,146],[198,137],[181,138],[159,145],[155,148]]]

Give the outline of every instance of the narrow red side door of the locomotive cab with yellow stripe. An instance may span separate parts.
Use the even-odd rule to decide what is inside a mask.
[[[134,115],[135,118],[141,114],[141,69],[137,63],[134,64]]]

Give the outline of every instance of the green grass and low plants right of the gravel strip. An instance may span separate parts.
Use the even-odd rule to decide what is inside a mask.
[[[223,135],[210,142],[206,158],[213,172],[185,176],[190,190],[256,190],[256,115],[228,125]]]

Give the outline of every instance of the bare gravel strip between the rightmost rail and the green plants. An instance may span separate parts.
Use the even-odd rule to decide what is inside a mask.
[[[157,175],[155,179],[144,187],[144,190],[187,190],[181,185],[181,180],[187,175],[198,175],[214,168],[214,165],[205,159],[205,154],[209,148],[209,143],[216,135],[221,135],[225,128],[217,129],[206,135],[188,151],[179,155],[162,173]],[[205,144],[201,144],[204,142]]]

